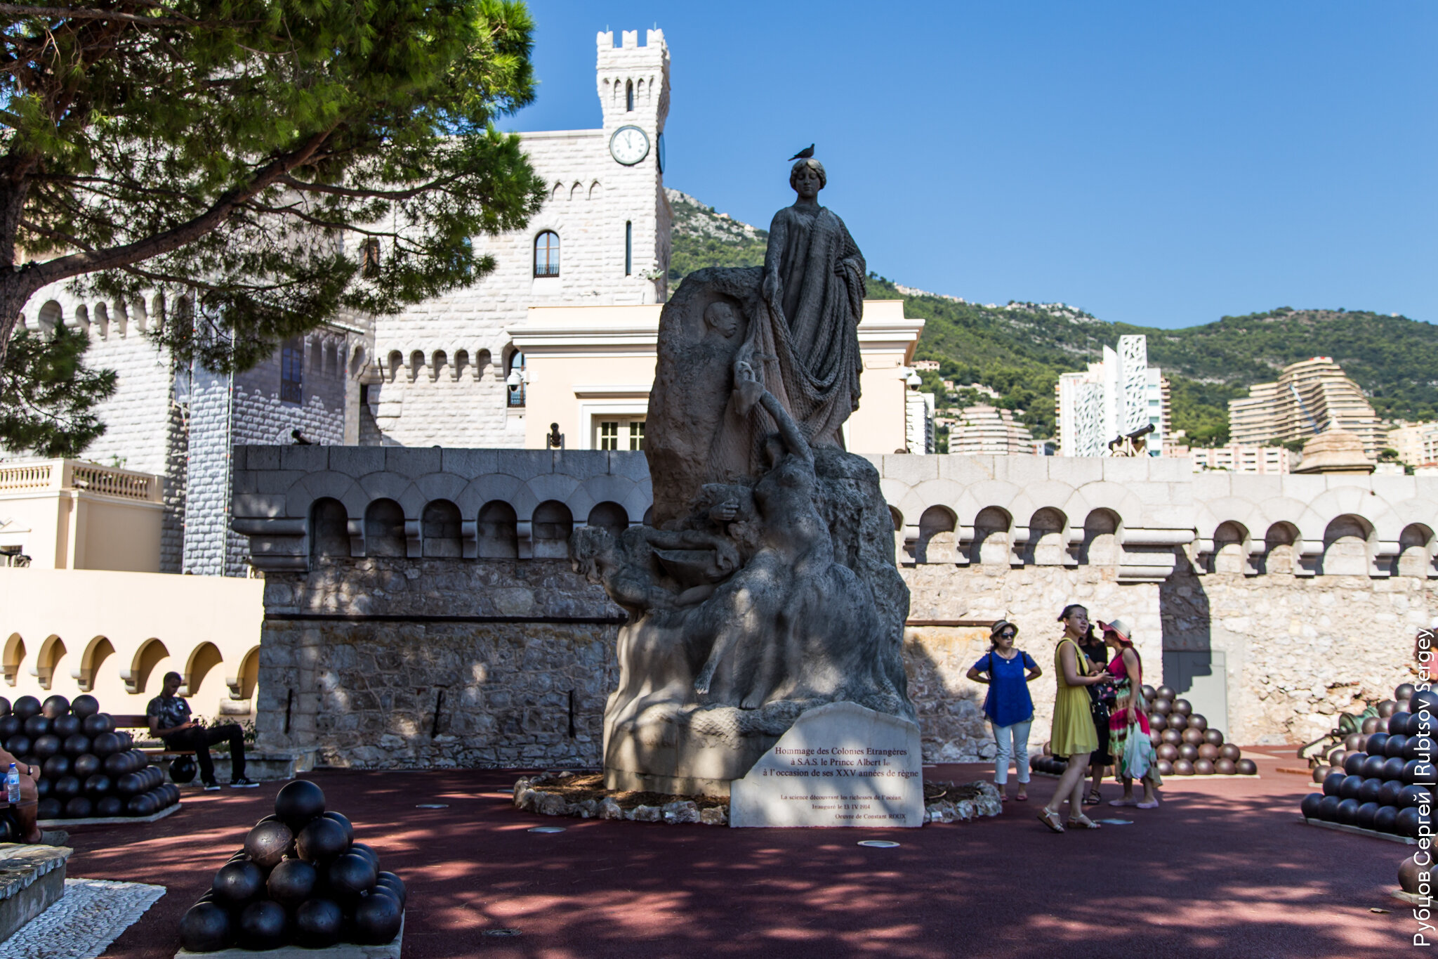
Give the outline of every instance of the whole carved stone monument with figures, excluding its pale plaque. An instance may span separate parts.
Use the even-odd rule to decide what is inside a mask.
[[[909,591],[879,473],[843,450],[864,260],[794,165],[765,266],[707,269],[664,306],[646,456],[653,526],[574,533],[630,614],[604,713],[610,788],[728,794],[795,719],[854,702],[913,720]]]

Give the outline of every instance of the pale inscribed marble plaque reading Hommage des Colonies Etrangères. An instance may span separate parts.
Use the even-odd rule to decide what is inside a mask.
[[[729,825],[923,825],[919,726],[847,702],[805,712],[729,786]]]

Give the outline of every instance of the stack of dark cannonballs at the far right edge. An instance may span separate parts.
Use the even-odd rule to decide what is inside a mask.
[[[1438,693],[1403,684],[1313,771],[1303,818],[1418,838],[1434,801]]]

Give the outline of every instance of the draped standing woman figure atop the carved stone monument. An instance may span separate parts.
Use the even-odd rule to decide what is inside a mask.
[[[818,204],[824,164],[801,160],[789,171],[798,194],[774,214],[764,256],[762,309],[736,357],[779,400],[812,446],[843,447],[840,427],[858,405],[858,321],[864,256],[844,221]],[[764,313],[768,316],[764,316]],[[741,413],[758,397],[739,395]]]

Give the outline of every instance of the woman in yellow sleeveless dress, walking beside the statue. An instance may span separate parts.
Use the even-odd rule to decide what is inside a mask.
[[[1058,621],[1064,624],[1064,635],[1054,650],[1058,697],[1054,700],[1054,725],[1048,748],[1055,756],[1067,756],[1068,765],[1058,778],[1054,798],[1040,811],[1038,820],[1054,832],[1063,832],[1058,807],[1068,799],[1068,825],[1097,830],[1099,824],[1083,812],[1083,776],[1089,771],[1089,753],[1099,748],[1086,687],[1107,683],[1110,676],[1094,667],[1078,648],[1078,640],[1089,631],[1089,610],[1078,604],[1066,605],[1058,614]]]

